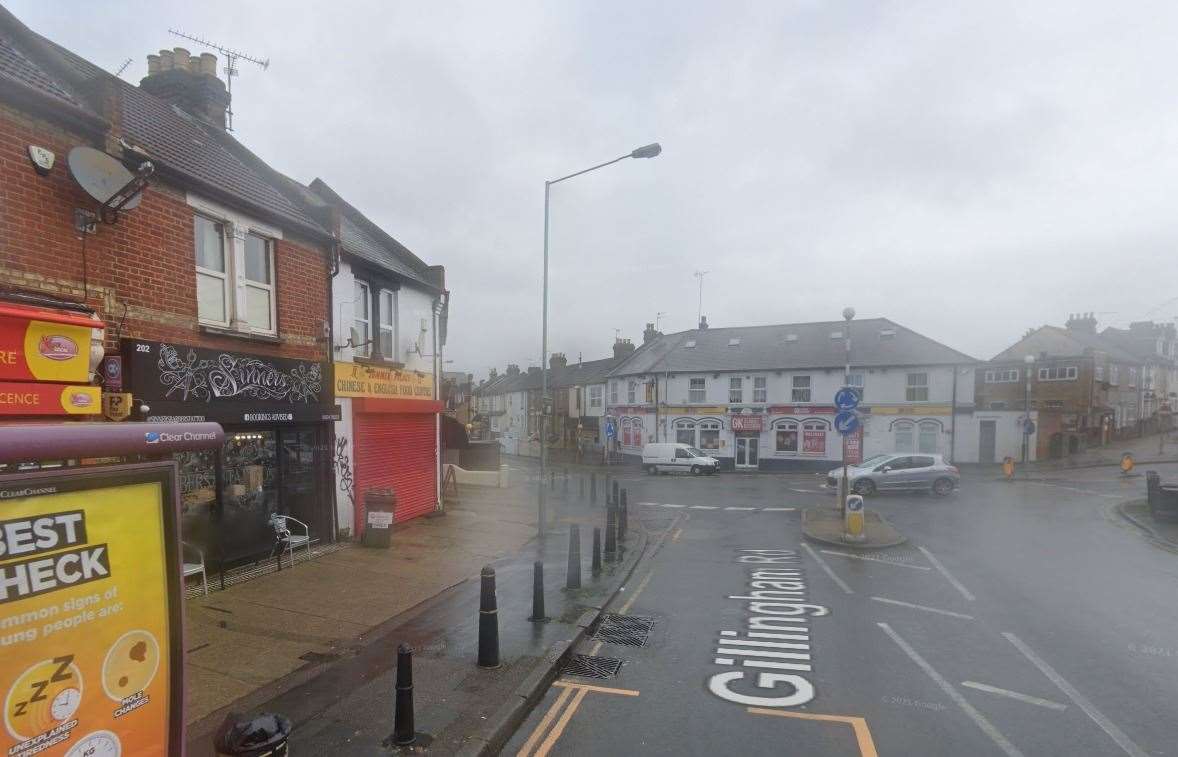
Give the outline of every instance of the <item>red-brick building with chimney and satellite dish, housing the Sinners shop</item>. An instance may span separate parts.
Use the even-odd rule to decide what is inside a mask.
[[[231,562],[273,544],[276,512],[333,538],[337,247],[331,212],[225,132],[216,71],[160,51],[137,87],[0,7],[0,299],[100,321],[113,418],[225,426],[224,449],[179,463],[185,538]],[[104,219],[71,170],[79,148],[132,173],[150,161],[138,206]]]

